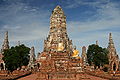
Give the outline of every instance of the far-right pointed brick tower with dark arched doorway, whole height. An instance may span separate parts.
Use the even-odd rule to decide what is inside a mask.
[[[109,58],[109,70],[118,71],[119,68],[119,56],[116,52],[114,42],[112,39],[112,34],[109,34],[109,44],[108,44],[108,58]]]

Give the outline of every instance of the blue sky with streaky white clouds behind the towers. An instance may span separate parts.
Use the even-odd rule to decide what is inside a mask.
[[[120,0],[0,0],[0,46],[9,31],[10,46],[20,41],[42,52],[49,33],[52,10],[60,5],[67,16],[67,32],[81,53],[81,47],[98,40],[108,46],[111,32],[120,55]]]

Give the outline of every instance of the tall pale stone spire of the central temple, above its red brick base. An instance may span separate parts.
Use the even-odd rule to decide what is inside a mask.
[[[60,6],[52,11],[50,32],[44,40],[44,51],[72,51],[72,40],[69,40],[66,30],[66,16]]]

